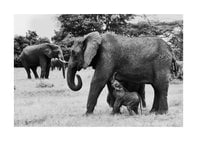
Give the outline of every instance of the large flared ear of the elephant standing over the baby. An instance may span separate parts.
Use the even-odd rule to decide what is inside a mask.
[[[97,53],[99,45],[101,44],[101,36],[98,32],[91,32],[84,36],[84,39],[85,51],[83,68],[86,69]]]

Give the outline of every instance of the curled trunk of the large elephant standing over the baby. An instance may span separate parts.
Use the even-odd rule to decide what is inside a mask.
[[[77,85],[75,84],[75,74],[76,74],[76,71],[77,71],[77,68],[72,64],[69,64],[68,65],[68,71],[67,71],[67,83],[68,83],[68,86],[71,90],[73,91],[78,91],[81,89],[82,87],[82,80],[81,80],[81,77],[79,75],[76,75],[77,76],[77,80],[78,80],[78,83]]]

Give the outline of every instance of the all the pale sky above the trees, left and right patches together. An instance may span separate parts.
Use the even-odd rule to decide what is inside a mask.
[[[40,37],[48,37],[49,39],[54,35],[54,30],[58,30],[57,15],[54,14],[18,14],[14,15],[14,34],[25,35],[27,30],[36,31]],[[150,20],[159,21],[174,21],[182,20],[182,15],[173,14],[152,14],[147,15]],[[138,19],[140,20],[140,19]]]

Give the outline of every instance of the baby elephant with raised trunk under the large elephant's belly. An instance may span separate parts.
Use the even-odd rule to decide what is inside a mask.
[[[120,107],[122,105],[126,106],[129,114],[132,115],[132,111],[138,114],[138,106],[140,104],[141,109],[141,97],[137,92],[128,92],[123,85],[115,79],[116,73],[113,75],[111,81],[113,90],[113,95],[116,98],[113,106],[113,114],[120,113]],[[141,109],[142,114],[142,109]]]

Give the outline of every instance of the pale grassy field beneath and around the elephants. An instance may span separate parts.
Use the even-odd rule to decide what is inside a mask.
[[[40,73],[40,70],[38,70]],[[129,116],[126,108],[121,115],[111,115],[106,102],[107,88],[102,91],[94,114],[84,116],[92,69],[79,72],[83,80],[80,91],[71,91],[60,71],[50,72],[48,80],[28,80],[24,68],[14,69],[14,126],[183,126],[183,85],[169,87],[169,112],[149,114],[153,89],[146,85],[147,108],[142,115]]]

